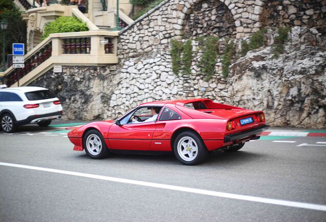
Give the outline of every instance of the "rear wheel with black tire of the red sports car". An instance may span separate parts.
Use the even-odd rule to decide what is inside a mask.
[[[191,138],[191,139],[190,139]],[[190,146],[181,145],[181,143],[186,143]],[[183,148],[183,150],[182,150]],[[196,151],[193,151],[194,150]],[[197,149],[195,149],[197,148]],[[187,150],[186,150],[187,149]],[[188,151],[189,149],[189,151]],[[186,150],[186,151],[185,151]],[[185,165],[196,165],[205,160],[208,151],[202,139],[194,132],[186,131],[180,133],[173,144],[173,151],[176,158]],[[182,154],[182,152],[188,152]]]

